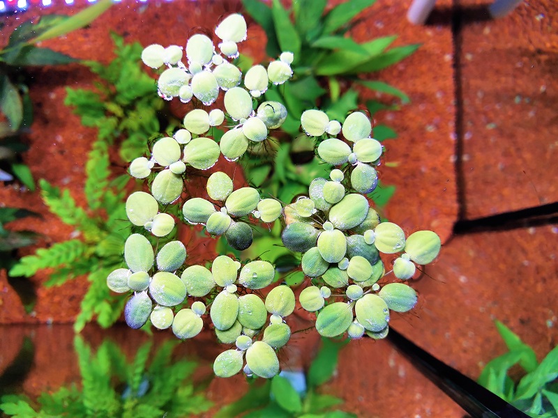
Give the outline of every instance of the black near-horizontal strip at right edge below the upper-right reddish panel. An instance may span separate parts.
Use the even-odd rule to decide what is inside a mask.
[[[558,202],[478,219],[461,220],[453,226],[453,234],[510,231],[552,224],[558,224]]]

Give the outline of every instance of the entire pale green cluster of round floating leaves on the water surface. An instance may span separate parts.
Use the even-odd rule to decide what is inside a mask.
[[[195,98],[209,105],[223,91],[224,111],[189,111],[172,137],[151,146],[149,158],[131,163],[131,176],[148,181],[151,193],[134,192],[126,201],[128,219],[141,233],[130,235],[124,249],[126,268],[114,270],[107,284],[112,291],[132,294],[125,308],[130,327],[150,321],[160,330],[171,328],[179,339],[190,339],[202,331],[204,320],[211,320],[217,339],[234,344],[216,358],[217,376],[243,370],[248,376],[271,378],[280,369],[277,351],[291,336],[285,317],[295,309],[294,292],[280,285],[262,293],[276,279],[267,261],[241,263],[220,255],[211,266],[188,265],[182,242],[170,240],[159,248],[160,239],[172,236],[177,220],[203,224],[210,235],[223,235],[230,247],[244,250],[252,244],[250,223],[281,219],[282,242],[302,253],[301,268],[308,277],[299,303],[317,314],[317,331],[326,337],[386,336],[389,311],[405,312],[416,304],[415,291],[402,281],[413,277],[417,264],[434,260],[440,241],[431,231],[406,239],[399,226],[380,222],[363,196],[377,185],[375,167],[384,149],[370,137],[369,118],[358,111],[342,124],[317,109],[303,113],[301,126],[309,137],[316,137],[317,155],[338,168],[329,179],[313,180],[308,196],[294,203],[262,199],[252,187],[235,190],[232,179],[221,171],[207,180],[209,199],[181,199],[188,167],[210,169],[221,154],[237,160],[287,117],[279,102],[258,104],[258,98],[270,83],[282,84],[292,76],[292,54],[282,53],[267,68],[254,65],[243,77],[230,60],[238,54],[237,43],[246,39],[245,20],[230,15],[215,33],[221,41],[217,47],[207,36],[190,37],[185,62],[178,45],[144,49],[146,65],[166,65],[158,79],[161,97],[183,102]],[[228,130],[217,143],[209,132],[225,121]],[[173,213],[179,216],[169,215],[168,209],[177,203],[180,210]],[[393,275],[401,282],[379,285],[386,276],[380,252],[402,254],[393,264]]]

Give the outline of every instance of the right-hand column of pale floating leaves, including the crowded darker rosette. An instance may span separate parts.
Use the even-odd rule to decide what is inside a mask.
[[[322,111],[308,110],[301,125],[308,136],[322,139],[317,146],[319,157],[341,169],[333,169],[329,179],[312,180],[308,197],[284,208],[282,242],[303,254],[301,267],[311,279],[299,302],[306,311],[317,313],[316,329],[322,336],[347,332],[352,339],[364,334],[384,338],[390,310],[409,311],[417,295],[403,282],[380,286],[379,281],[386,281],[380,253],[402,253],[392,272],[405,281],[414,276],[416,264],[434,261],[441,242],[432,231],[405,238],[400,226],[380,222],[363,196],[377,186],[375,166],[383,153],[382,144],[370,137],[368,116],[356,111],[341,125],[329,121]],[[340,133],[352,147],[337,138]]]

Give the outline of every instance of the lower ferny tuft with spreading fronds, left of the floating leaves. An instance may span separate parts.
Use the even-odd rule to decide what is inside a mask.
[[[126,230],[126,208],[123,187],[127,176],[110,180],[108,146],[98,140],[93,144],[86,163],[85,190],[88,208],[77,206],[68,189],[60,190],[40,180],[43,201],[65,224],[75,226],[80,238],[57,242],[25,256],[14,265],[9,275],[31,277],[38,270],[54,269],[45,286],[59,286],[69,279],[86,274],[91,283],[82,309],[76,318],[75,330],[97,316],[97,322],[108,327],[119,318],[123,301],[110,294],[106,276],[122,263],[121,254],[129,234]]]

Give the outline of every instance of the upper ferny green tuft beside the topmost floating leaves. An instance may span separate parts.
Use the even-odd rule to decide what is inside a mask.
[[[146,138],[160,132],[158,114],[164,106],[153,94],[156,84],[138,62],[142,45],[126,44],[115,33],[111,36],[116,58],[108,65],[86,63],[100,77],[95,90],[68,87],[64,103],[74,108],[82,125],[98,128],[99,139],[111,145],[118,141],[121,158],[129,162],[143,152]],[[165,118],[171,125],[176,123],[168,115]]]

